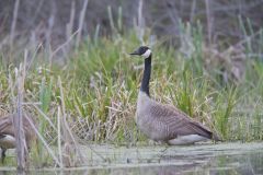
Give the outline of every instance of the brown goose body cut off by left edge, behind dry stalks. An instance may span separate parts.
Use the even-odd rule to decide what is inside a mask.
[[[35,132],[31,127],[30,122],[25,117],[23,117],[23,128],[25,133],[26,147],[30,150],[31,143],[36,139]],[[4,162],[5,151],[8,149],[15,148],[15,137],[13,128],[13,115],[7,115],[0,117],[0,148],[1,148],[1,159]]]

